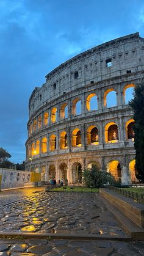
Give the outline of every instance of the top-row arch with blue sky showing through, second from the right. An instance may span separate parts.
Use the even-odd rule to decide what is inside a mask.
[[[117,94],[113,88],[106,90],[104,92],[104,107],[112,108],[117,106]]]

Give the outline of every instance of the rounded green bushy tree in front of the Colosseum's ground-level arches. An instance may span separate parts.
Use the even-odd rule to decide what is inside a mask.
[[[92,186],[92,188],[100,188],[106,183],[110,185],[114,183],[113,176],[108,172],[99,170],[99,167],[96,165],[92,165],[91,169],[84,169],[82,177],[84,178],[85,185],[88,187]]]

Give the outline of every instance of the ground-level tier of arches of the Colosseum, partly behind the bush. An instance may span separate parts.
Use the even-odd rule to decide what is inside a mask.
[[[41,173],[42,181],[52,178],[65,181],[69,184],[82,184],[82,171],[90,169],[92,164],[99,170],[110,172],[115,180],[123,184],[137,182],[137,170],[135,170],[134,150],[129,150],[128,155],[124,150],[107,150],[104,155],[96,152],[70,153],[69,155],[46,156],[45,158],[32,159],[26,163],[26,170]]]

